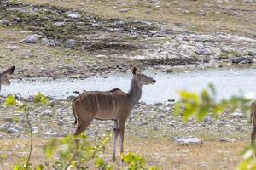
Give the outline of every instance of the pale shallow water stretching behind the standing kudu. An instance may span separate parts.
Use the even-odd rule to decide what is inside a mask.
[[[148,104],[178,99],[179,90],[200,92],[210,82],[215,85],[218,97],[227,98],[233,94],[256,95],[256,69],[222,69],[207,71],[191,71],[183,73],[162,73],[147,71],[156,83],[143,87],[142,101]],[[41,91],[55,99],[66,99],[70,95],[78,95],[74,91],[110,90],[120,88],[127,92],[130,88],[131,73],[117,74],[108,78],[57,79],[57,80],[12,80],[11,86],[2,87],[1,94],[20,94],[27,98]]]

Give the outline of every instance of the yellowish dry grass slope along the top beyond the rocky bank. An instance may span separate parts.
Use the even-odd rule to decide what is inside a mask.
[[[122,1],[124,3],[118,3],[112,0],[20,0],[20,2],[79,9],[104,18],[164,22],[170,24],[172,28],[174,26],[190,31],[224,31],[247,37],[253,37],[256,31],[253,12],[256,10],[256,3],[243,3],[243,1],[216,3],[211,0],[164,0],[160,1],[159,8],[155,8],[153,1],[124,0]],[[124,8],[128,8],[128,12],[120,12]]]

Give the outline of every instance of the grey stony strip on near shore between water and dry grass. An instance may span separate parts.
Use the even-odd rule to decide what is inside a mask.
[[[239,112],[225,113],[218,118],[208,116],[203,122],[192,119],[185,123],[180,117],[173,116],[172,106],[173,103],[154,105],[140,103],[132,111],[127,121],[126,132],[134,134],[138,138],[158,139],[168,137],[176,139],[179,136],[203,135],[210,139],[222,139],[223,137],[247,139],[248,132],[251,130],[248,117]],[[51,101],[48,106],[34,105],[33,107],[30,119],[36,135],[61,137],[74,132],[74,117],[70,102]],[[1,116],[3,118],[0,126],[0,129],[4,132],[2,138],[20,137],[27,133],[22,130],[26,128],[25,116],[20,115],[15,110],[17,109],[6,109],[2,105]],[[94,136],[110,133],[112,129],[112,121],[95,120],[88,132],[90,137],[93,138]]]

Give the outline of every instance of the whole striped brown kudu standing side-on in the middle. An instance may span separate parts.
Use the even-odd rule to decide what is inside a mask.
[[[78,123],[75,135],[82,133],[93,119],[113,120],[113,161],[116,160],[116,141],[119,136],[120,153],[123,153],[125,122],[134,105],[142,97],[143,85],[154,84],[155,80],[132,68],[131,88],[128,93],[119,88],[110,91],[88,91],[73,100],[73,115]]]

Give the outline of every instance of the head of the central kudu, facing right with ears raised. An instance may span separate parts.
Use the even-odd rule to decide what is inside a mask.
[[[143,73],[137,71],[137,67],[133,67],[131,69],[133,77],[140,85],[148,85],[148,84],[154,84],[156,81],[153,77],[148,77],[144,75]]]

